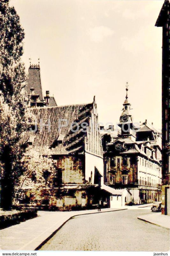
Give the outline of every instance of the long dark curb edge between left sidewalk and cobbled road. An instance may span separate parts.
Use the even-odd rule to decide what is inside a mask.
[[[113,211],[122,211],[122,210],[127,210],[127,208],[125,209],[117,209],[117,210],[111,210],[111,211],[99,211],[99,212],[92,212],[92,213],[82,213],[82,214],[76,214],[71,216],[70,218],[68,218],[66,221],[63,222],[63,224],[61,226],[59,226],[51,235],[49,235],[42,243],[40,243],[39,246],[37,246],[33,251],[38,251],[39,249],[41,249],[41,247],[47,243],[56,233],[58,230],[60,230],[62,228],[62,226],[64,226],[64,224],[66,222],[68,222],[70,219],[76,217],[76,216],[81,216],[81,215],[88,215],[88,214],[96,214],[96,213],[104,213],[104,212],[113,212]]]

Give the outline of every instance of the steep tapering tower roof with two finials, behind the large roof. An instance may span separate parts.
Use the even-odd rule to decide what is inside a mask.
[[[30,88],[34,88],[35,95],[40,95],[40,100],[43,100],[41,74],[39,65],[30,65],[28,69],[28,78],[26,80],[26,91],[30,94]]]

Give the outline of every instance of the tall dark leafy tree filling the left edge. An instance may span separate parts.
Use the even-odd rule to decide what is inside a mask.
[[[18,175],[20,134],[31,122],[24,90],[25,67],[21,62],[24,30],[9,0],[0,0],[0,168],[1,207],[12,203],[14,180]]]

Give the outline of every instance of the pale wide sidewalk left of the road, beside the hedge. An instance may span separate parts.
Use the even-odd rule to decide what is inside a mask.
[[[0,231],[0,247],[1,250],[34,251],[42,242],[74,216],[125,209],[127,208],[105,208],[101,209],[101,212],[98,212],[97,209],[69,212],[39,211],[36,218],[2,229]]]

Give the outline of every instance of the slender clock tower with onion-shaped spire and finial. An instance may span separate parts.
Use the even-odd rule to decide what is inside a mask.
[[[121,127],[121,136],[131,137],[133,135],[133,122],[132,115],[130,114],[130,106],[131,104],[128,102],[128,83],[126,84],[126,98],[123,103],[122,114],[120,116],[120,122],[118,124]],[[135,136],[134,136],[135,137]]]

